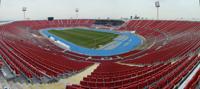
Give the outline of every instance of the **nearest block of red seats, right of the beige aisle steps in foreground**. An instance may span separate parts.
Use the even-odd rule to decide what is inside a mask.
[[[130,67],[116,63],[102,63],[80,85],[67,89],[170,89],[173,88],[199,62],[199,57],[183,57],[174,63],[149,67]]]

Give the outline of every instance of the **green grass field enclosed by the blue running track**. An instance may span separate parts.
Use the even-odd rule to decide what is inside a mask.
[[[99,45],[105,45],[118,36],[118,34],[114,33],[83,30],[80,28],[49,30],[48,32],[86,48],[99,48]]]

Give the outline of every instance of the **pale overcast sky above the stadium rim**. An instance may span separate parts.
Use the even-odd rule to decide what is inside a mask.
[[[46,19],[75,18],[75,8],[79,8],[79,18],[113,18],[138,15],[155,19],[155,1],[160,1],[160,18],[200,18],[199,0],[1,0],[0,20],[23,19],[22,7],[27,7],[27,17]]]

